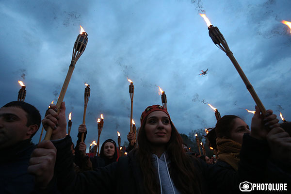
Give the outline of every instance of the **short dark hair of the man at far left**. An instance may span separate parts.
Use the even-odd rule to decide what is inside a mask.
[[[40,116],[39,111],[34,106],[23,101],[12,101],[2,106],[2,108],[7,108],[7,107],[17,107],[17,108],[22,109],[26,113],[26,117],[27,117],[26,126],[29,127],[31,125],[37,125],[39,129],[41,116]],[[33,135],[35,135],[37,130],[31,135],[31,138],[33,137]]]

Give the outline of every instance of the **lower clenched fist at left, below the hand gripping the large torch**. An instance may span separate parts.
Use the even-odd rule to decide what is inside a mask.
[[[37,145],[29,160],[28,172],[35,176],[35,184],[46,189],[53,178],[57,149],[49,141],[44,140]]]

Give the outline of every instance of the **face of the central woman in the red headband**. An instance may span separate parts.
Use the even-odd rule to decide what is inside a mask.
[[[146,138],[151,144],[158,146],[168,143],[172,132],[168,115],[162,111],[148,114],[145,131]]]

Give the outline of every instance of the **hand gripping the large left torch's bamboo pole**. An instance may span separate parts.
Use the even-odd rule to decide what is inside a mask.
[[[50,104],[50,109],[46,113],[46,117],[42,120],[45,130],[50,127],[52,129],[51,140],[62,139],[66,136],[66,120],[65,120],[65,102],[61,104],[60,113],[57,105]]]

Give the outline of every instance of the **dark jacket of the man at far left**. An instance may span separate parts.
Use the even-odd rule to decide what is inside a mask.
[[[0,150],[0,193],[29,194],[34,190],[34,176],[27,168],[35,145],[31,139]]]

